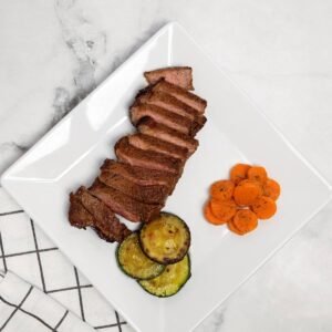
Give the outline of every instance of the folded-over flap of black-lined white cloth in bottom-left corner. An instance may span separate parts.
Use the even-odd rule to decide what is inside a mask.
[[[90,325],[18,276],[0,272],[0,331],[92,332]]]

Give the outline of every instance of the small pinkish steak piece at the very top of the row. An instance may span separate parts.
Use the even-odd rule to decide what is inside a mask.
[[[190,66],[169,66],[144,73],[144,77],[149,84],[154,84],[160,79],[178,85],[183,89],[194,90],[193,69]]]

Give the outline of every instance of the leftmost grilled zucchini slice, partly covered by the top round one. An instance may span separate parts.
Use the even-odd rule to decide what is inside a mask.
[[[141,249],[138,235],[133,232],[117,247],[116,258],[121,269],[129,277],[146,280],[159,276],[165,266],[147,258]]]

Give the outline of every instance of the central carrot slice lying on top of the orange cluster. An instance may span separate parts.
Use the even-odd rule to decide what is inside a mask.
[[[240,206],[251,205],[262,196],[262,186],[255,180],[241,180],[234,190],[234,199]]]

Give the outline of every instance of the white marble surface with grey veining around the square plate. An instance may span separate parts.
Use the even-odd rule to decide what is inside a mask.
[[[330,0],[0,0],[0,172],[172,20],[332,183]],[[332,204],[197,331],[332,331],[331,243]]]

